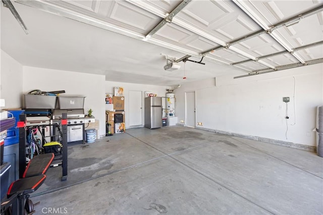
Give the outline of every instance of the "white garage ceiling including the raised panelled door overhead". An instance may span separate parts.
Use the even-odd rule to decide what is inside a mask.
[[[28,34],[2,5],[4,51],[23,65],[100,74],[107,81],[173,86],[223,75],[278,73],[285,65],[306,65],[323,58],[322,1],[12,4]],[[179,5],[181,10],[169,18]],[[165,25],[151,34],[161,22]],[[264,56],[269,54],[274,55]],[[178,60],[186,55],[194,61],[203,56],[205,65],[180,61],[180,69],[164,70],[166,56]]]

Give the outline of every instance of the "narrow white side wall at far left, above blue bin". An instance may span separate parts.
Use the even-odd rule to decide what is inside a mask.
[[[1,50],[0,98],[6,102],[3,109],[21,108],[22,70],[17,60]]]

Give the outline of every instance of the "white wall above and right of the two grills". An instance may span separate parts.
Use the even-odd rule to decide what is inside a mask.
[[[57,69],[23,67],[23,93],[32,90],[65,90],[62,96],[85,96],[84,110],[93,110],[100,121],[99,134],[105,135],[105,76]]]

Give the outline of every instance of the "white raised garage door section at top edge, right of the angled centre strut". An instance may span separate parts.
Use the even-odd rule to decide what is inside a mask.
[[[230,1],[196,1],[189,3],[174,19],[197,27],[203,34],[212,35],[223,43],[260,29]],[[218,41],[216,41],[218,42]]]

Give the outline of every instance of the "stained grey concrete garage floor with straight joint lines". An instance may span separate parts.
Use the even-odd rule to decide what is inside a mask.
[[[68,180],[48,170],[35,214],[323,213],[323,159],[312,152],[182,126],[68,151]]]

